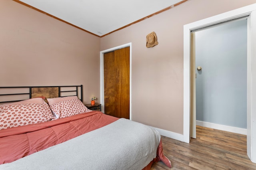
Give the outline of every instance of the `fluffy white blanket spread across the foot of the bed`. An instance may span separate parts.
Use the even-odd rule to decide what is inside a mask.
[[[128,119],[118,119],[61,144],[36,152],[1,170],[141,170],[156,157],[160,134]]]

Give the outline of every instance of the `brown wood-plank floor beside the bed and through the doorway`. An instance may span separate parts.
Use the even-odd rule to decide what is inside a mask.
[[[246,135],[196,126],[190,143],[162,136],[172,170],[256,170],[246,153]],[[151,170],[170,169],[156,162]]]

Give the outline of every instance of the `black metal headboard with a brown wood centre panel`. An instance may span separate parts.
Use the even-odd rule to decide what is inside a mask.
[[[83,102],[83,85],[0,87],[0,103],[22,101],[38,96],[78,96]]]

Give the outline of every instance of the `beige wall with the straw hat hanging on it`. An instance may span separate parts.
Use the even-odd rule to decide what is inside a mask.
[[[132,42],[132,120],[183,134],[183,25],[256,0],[190,0],[101,38],[100,50]],[[156,32],[158,45],[146,48]]]

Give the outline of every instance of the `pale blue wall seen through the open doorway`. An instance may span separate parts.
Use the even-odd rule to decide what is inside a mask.
[[[196,32],[196,120],[247,128],[247,20]]]

